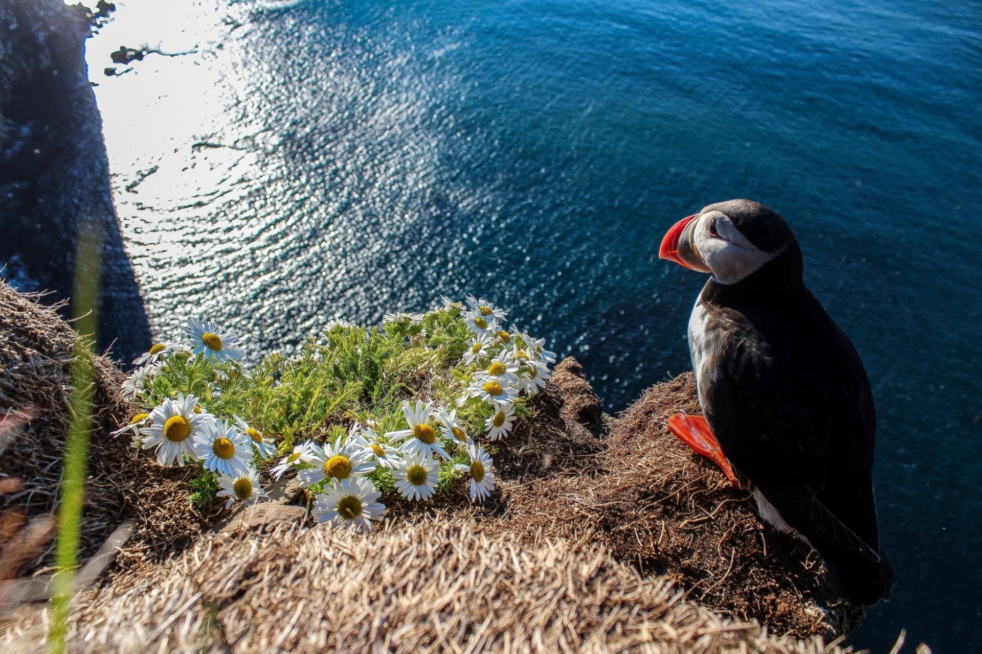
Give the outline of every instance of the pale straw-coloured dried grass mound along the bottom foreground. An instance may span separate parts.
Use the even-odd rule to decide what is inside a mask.
[[[42,617],[0,644],[39,648]],[[767,652],[769,638],[642,578],[596,545],[525,547],[461,520],[372,533],[209,535],[153,574],[77,600],[73,652]]]

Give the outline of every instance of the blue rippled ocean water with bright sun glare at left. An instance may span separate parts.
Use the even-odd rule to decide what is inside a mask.
[[[762,201],[876,397],[899,581],[849,642],[982,650],[982,3],[202,4],[183,59],[107,79],[113,25],[89,45],[160,333],[289,350],[471,292],[618,411],[689,368],[665,230]]]

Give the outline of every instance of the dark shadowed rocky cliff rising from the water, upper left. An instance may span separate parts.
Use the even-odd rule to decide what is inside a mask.
[[[0,0],[0,268],[22,290],[71,295],[81,229],[103,233],[100,346],[131,361],[150,329],[113,208],[84,62],[91,25],[62,0]]]

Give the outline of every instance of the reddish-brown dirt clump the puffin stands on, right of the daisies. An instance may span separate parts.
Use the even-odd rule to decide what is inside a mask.
[[[496,515],[475,515],[483,528],[532,541],[602,543],[640,572],[677,581],[690,599],[772,632],[804,637],[858,627],[864,610],[836,596],[818,554],[765,526],[748,493],[665,427],[675,413],[700,413],[691,374],[649,388],[606,434],[587,428],[597,426],[599,400],[589,401],[581,376],[572,359],[560,363],[536,398],[532,424],[533,432],[548,425],[579,437],[563,441],[562,459],[553,460],[561,463],[505,475]],[[505,443],[503,473],[530,447],[549,461],[537,444]]]

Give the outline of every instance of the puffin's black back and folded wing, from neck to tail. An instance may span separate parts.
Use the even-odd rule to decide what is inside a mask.
[[[855,348],[803,287],[771,304],[704,306],[717,352],[699,394],[724,454],[828,561],[869,569],[850,573],[862,579],[847,594],[889,595],[873,497],[876,415]]]

